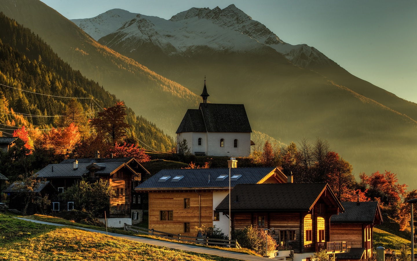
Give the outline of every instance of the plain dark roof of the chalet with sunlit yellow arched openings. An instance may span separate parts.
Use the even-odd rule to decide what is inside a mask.
[[[231,191],[231,210],[310,210],[326,183],[239,184]],[[216,210],[229,209],[229,195]]]

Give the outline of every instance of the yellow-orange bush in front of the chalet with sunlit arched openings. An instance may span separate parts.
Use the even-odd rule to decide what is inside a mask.
[[[263,230],[252,226],[233,231],[233,239],[236,239],[241,247],[251,249],[260,255],[265,254],[265,242],[268,240],[268,253],[276,249],[276,241]]]

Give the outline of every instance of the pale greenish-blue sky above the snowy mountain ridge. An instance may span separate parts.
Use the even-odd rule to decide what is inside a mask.
[[[353,75],[417,103],[417,1],[41,0],[68,19],[113,8],[169,19],[192,7],[230,4],[286,43],[317,48]]]

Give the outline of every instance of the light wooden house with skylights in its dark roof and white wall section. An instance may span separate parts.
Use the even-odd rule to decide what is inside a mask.
[[[231,168],[230,186],[240,183],[282,183],[275,167]],[[196,235],[194,227],[216,226],[229,234],[229,217],[214,208],[229,194],[229,168],[161,170],[135,188],[148,192],[149,228]]]

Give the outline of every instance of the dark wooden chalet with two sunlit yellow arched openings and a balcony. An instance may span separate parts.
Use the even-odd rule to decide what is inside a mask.
[[[346,242],[330,240],[330,217],[344,210],[324,183],[239,184],[231,191],[232,230],[268,228],[281,246],[306,260],[320,249],[346,251]],[[229,211],[229,195],[216,207]]]

